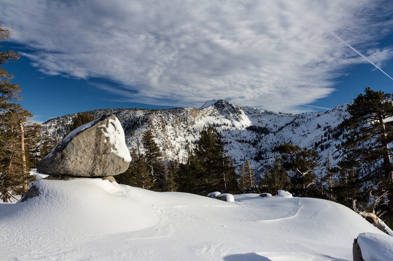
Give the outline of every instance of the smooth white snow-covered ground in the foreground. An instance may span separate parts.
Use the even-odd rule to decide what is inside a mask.
[[[334,202],[235,195],[235,202],[107,180],[40,179],[38,197],[0,204],[0,260],[352,260],[381,234]]]

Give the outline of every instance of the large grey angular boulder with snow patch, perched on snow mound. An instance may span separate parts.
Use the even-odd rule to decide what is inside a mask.
[[[113,176],[126,171],[130,161],[119,120],[106,115],[70,132],[38,164],[37,171],[55,176]]]

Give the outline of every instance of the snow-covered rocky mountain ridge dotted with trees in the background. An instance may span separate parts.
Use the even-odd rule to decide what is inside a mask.
[[[251,160],[257,172],[271,162],[271,149],[283,142],[315,149],[323,162],[330,152],[332,162],[339,159],[335,144],[342,139],[338,124],[347,117],[347,104],[326,112],[305,114],[274,113],[243,108],[225,100],[211,100],[200,108],[167,110],[106,109],[89,111],[98,118],[113,113],[123,125],[128,147],[140,148],[144,132],[151,129],[165,159],[185,162],[188,150],[199,139],[199,132],[213,125],[221,131],[234,164]],[[50,119],[43,124],[44,135],[63,138],[66,126],[76,115]]]

